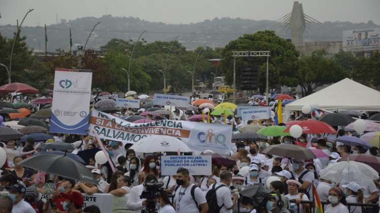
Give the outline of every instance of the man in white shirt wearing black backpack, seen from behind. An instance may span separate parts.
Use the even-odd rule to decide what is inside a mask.
[[[231,184],[232,175],[228,171],[223,171],[220,174],[220,183],[215,183],[209,187],[209,190],[216,189],[216,199],[218,207],[220,208],[220,213],[232,213],[232,207],[238,200],[238,195],[233,195],[233,200],[231,199],[231,191],[228,186]]]

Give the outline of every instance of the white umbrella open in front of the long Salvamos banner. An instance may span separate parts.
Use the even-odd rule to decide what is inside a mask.
[[[191,152],[191,149],[180,139],[166,135],[145,137],[129,149],[137,153]]]

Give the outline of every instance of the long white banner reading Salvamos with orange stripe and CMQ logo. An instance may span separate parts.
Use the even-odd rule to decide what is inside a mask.
[[[231,125],[172,120],[130,123],[97,110],[91,114],[90,128],[90,135],[95,136],[94,129],[102,139],[134,144],[149,135],[168,135],[180,138],[194,151],[212,150],[220,154],[229,154],[232,136]]]

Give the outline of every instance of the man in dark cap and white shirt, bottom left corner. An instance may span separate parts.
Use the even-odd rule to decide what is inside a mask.
[[[31,204],[24,201],[25,187],[21,184],[15,184],[6,188],[9,192],[8,197],[12,199],[12,213],[36,213]]]

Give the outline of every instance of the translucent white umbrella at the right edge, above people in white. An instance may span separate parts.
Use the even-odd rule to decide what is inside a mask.
[[[320,179],[340,183],[340,185],[355,182],[360,186],[364,186],[368,181],[377,180],[378,173],[372,167],[364,163],[341,161],[321,170]]]

